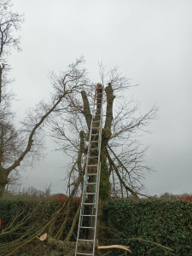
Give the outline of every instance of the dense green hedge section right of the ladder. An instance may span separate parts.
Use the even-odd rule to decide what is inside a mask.
[[[110,201],[103,218],[110,233],[106,242],[130,246],[131,255],[192,255],[191,202]],[[113,255],[126,254],[116,250]]]

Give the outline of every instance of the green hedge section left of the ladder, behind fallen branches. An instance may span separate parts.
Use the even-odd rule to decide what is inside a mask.
[[[56,200],[2,200],[0,201],[0,218],[2,230],[9,230],[15,228],[13,234],[9,232],[9,236],[1,237],[1,241],[6,242],[17,239],[17,234],[23,233],[23,230],[30,228],[30,233],[38,227],[43,226],[49,221],[49,218],[61,207],[62,203]],[[67,236],[67,232],[73,222],[73,217],[77,208],[79,207],[78,201],[73,201],[70,209],[70,218],[67,222],[67,228],[63,233],[63,237]],[[65,219],[66,211],[61,213],[55,218],[54,226],[51,226],[49,232],[50,236],[55,236],[55,233]],[[0,241],[0,242],[1,242]]]

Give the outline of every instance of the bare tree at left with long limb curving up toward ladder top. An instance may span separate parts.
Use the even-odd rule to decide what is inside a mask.
[[[26,156],[38,155],[37,152],[42,147],[44,126],[49,121],[51,113],[58,111],[61,103],[63,110],[68,108],[70,94],[74,91],[78,93],[84,88],[86,76],[85,70],[81,68],[83,63],[84,59],[80,58],[54,80],[54,93],[50,102],[40,102],[36,108],[28,112],[20,131],[12,124],[10,115],[6,116],[3,112],[0,124],[0,198],[6,184],[9,183],[11,172],[17,170]]]

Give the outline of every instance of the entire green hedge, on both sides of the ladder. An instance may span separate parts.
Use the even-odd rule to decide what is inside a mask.
[[[71,218],[67,223],[66,234],[63,234],[63,238],[71,227],[78,206],[79,201],[74,201],[70,208]],[[3,236],[2,242],[17,239],[18,231],[19,233],[23,232],[23,229],[27,227],[36,229],[38,224],[46,224],[59,207],[61,207],[61,202],[55,200],[0,201],[0,218],[3,230],[10,224],[15,226],[22,222],[18,226],[17,232],[11,236],[10,234]],[[61,212],[55,220],[50,235],[54,236],[65,219],[65,214],[65,211]],[[192,255],[192,202],[113,200],[109,201],[103,208],[103,221],[106,224],[102,234],[102,244],[104,245],[122,244],[129,246],[132,251],[131,255],[135,256]],[[48,230],[48,233],[50,231]],[[75,239],[75,237],[73,238]],[[111,255],[127,254],[122,250],[113,250]]]

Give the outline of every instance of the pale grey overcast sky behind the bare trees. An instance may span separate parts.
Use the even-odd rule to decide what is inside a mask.
[[[192,2],[189,0],[14,0],[25,14],[20,32],[22,52],[9,57],[15,77],[17,118],[49,97],[50,70],[61,71],[80,55],[90,77],[99,79],[98,61],[140,84],[130,95],[143,112],[154,103],[159,119],[142,142],[150,145],[146,176],[151,195],[192,193]],[[99,82],[99,80],[98,80]],[[63,192],[63,166],[58,152],[48,154],[24,173],[25,187]]]

